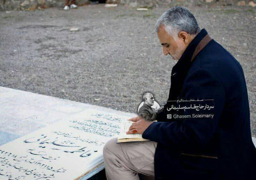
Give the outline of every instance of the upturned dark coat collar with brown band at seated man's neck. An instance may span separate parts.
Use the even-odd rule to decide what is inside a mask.
[[[198,35],[188,44],[188,47],[180,57],[179,61],[172,67],[172,71],[174,74],[176,71],[181,69],[187,69],[190,67],[192,61],[194,60],[196,54],[201,51],[204,46],[209,43],[211,40],[205,29],[202,29]],[[193,57],[194,54],[194,57]],[[192,59],[193,57],[193,59]],[[192,60],[192,61],[191,61]],[[187,67],[187,68],[186,68]]]

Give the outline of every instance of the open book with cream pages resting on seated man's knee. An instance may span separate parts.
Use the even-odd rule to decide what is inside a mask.
[[[132,121],[122,121],[120,127],[120,134],[117,136],[117,143],[126,143],[134,141],[149,141],[148,139],[142,138],[141,134],[126,134],[132,125]]]

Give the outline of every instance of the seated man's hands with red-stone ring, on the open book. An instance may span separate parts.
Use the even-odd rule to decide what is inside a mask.
[[[128,121],[133,121],[133,123],[126,134],[143,134],[148,126],[153,123],[153,121],[147,121],[140,116],[129,119]]]

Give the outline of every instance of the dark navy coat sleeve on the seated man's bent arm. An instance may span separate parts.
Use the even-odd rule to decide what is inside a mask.
[[[142,134],[143,138],[164,146],[183,149],[209,143],[216,130],[225,103],[225,90],[219,78],[206,69],[197,69],[184,82],[184,99],[214,99],[213,118],[182,119],[153,122]],[[191,111],[185,111],[188,115]]]

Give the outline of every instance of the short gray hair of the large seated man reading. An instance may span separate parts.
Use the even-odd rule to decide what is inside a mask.
[[[197,35],[200,32],[194,15],[187,8],[181,6],[172,7],[162,14],[155,25],[156,33],[162,25],[174,39],[178,37],[180,31],[185,31],[190,35]]]

